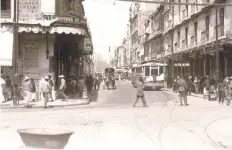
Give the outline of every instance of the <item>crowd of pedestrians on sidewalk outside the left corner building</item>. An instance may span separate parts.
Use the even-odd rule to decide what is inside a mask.
[[[25,76],[20,78],[19,75],[15,75],[15,78],[21,80],[21,82],[13,82],[9,77],[0,76],[0,100],[1,103],[13,100],[14,105],[19,104],[19,100],[25,100],[26,106],[29,102],[35,102],[38,100],[44,100],[44,108],[47,108],[48,101],[52,102],[57,98],[62,98],[62,101],[69,99],[69,97],[76,98],[77,94],[81,98],[85,87],[88,93],[92,92],[92,89],[99,89],[99,78],[95,75],[89,76],[72,76],[70,81],[66,83],[65,76],[59,76],[59,86],[56,89],[54,79],[50,75],[42,77],[36,86],[32,77]]]

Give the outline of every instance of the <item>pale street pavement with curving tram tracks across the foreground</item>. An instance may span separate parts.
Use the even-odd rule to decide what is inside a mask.
[[[0,149],[18,149],[16,130],[37,127],[74,130],[66,150],[232,149],[231,106],[193,96],[180,106],[171,91],[145,91],[148,107],[133,108],[136,89],[117,84],[95,92],[88,106],[2,110]]]

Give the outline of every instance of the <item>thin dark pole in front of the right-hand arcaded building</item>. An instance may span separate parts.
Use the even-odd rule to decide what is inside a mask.
[[[220,51],[219,51],[219,41],[218,41],[218,7],[216,8],[216,77],[217,85],[220,82]]]

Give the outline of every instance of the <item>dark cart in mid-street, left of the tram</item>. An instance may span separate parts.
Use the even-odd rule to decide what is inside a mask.
[[[116,89],[115,83],[115,69],[114,68],[106,68],[105,69],[105,77],[104,77],[104,84],[103,89]]]

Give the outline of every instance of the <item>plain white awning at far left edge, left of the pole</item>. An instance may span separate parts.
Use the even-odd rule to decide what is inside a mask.
[[[13,33],[0,32],[0,66],[12,66]]]

